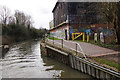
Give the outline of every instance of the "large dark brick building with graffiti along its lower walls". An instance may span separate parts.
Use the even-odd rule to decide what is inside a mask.
[[[103,16],[97,13],[90,2],[57,2],[53,9],[54,28],[50,29],[51,36],[60,39],[71,39],[72,33],[89,32],[106,29]],[[101,20],[101,21],[100,21]],[[102,23],[102,24],[101,24]]]

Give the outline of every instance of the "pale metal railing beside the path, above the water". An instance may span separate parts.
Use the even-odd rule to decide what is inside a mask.
[[[64,47],[69,48],[69,49],[75,51],[76,54],[82,53],[83,57],[84,57],[85,59],[87,58],[86,55],[85,55],[85,53],[83,52],[83,49],[82,49],[81,45],[80,45],[79,43],[77,43],[77,42],[67,41],[67,40],[63,40],[63,39],[61,39],[61,40],[55,40],[54,37],[53,37],[52,39],[46,38],[45,41],[46,41],[46,42],[50,42],[50,43],[52,43],[53,45],[54,45],[54,44],[56,44],[56,45],[61,45],[62,48],[64,48]],[[69,46],[65,45],[64,42],[69,42],[69,43],[71,43],[71,44],[74,43],[76,47],[75,47],[75,48],[70,48]],[[78,50],[78,48],[80,49],[80,51]]]

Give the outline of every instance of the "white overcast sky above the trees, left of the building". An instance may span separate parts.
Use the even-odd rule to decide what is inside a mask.
[[[52,10],[57,0],[0,0],[0,6],[6,6],[14,14],[15,10],[31,15],[35,28],[49,29],[49,22],[53,19]]]

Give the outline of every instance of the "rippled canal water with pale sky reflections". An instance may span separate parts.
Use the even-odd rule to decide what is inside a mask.
[[[91,78],[87,74],[41,55],[40,41],[13,44],[0,60],[2,78]]]

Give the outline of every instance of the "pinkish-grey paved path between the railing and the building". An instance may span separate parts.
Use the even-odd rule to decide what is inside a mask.
[[[49,42],[53,43],[53,40],[48,40]],[[54,40],[54,44],[61,45],[61,40]],[[83,51],[87,57],[97,57],[97,56],[103,56],[103,55],[111,55],[111,54],[118,54],[120,52],[114,51],[108,48],[99,47],[97,45],[93,45],[91,43],[85,43],[85,42],[76,42],[76,41],[63,41],[64,47],[67,47],[72,50],[76,50],[76,43],[78,43],[82,50],[80,49],[79,45],[77,45],[78,52]]]

